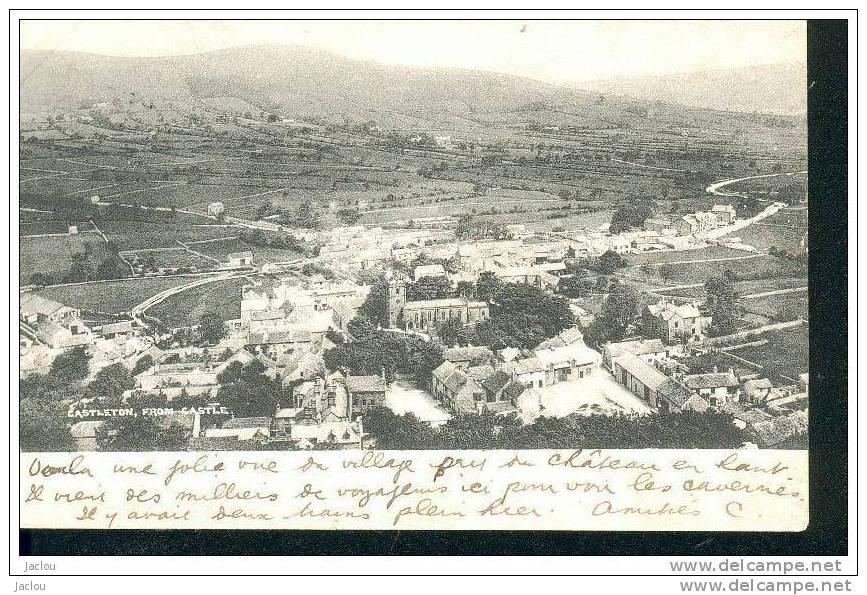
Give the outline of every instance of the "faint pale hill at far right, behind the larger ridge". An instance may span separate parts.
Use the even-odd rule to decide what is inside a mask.
[[[807,113],[806,64],[771,64],[657,77],[608,79],[576,87],[690,107],[781,115]]]

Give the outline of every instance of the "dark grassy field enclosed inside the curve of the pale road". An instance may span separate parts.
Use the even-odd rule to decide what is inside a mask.
[[[147,311],[163,324],[175,328],[198,324],[205,312],[217,312],[226,320],[241,316],[241,287],[246,279],[226,279],[206,283],[167,297]]]

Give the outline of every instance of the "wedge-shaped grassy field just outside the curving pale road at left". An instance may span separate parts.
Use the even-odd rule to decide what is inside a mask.
[[[194,277],[145,277],[85,285],[46,287],[37,292],[42,297],[68,306],[94,312],[119,314],[129,311],[163,290],[189,283]]]

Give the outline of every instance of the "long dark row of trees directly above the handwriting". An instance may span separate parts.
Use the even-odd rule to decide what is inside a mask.
[[[459,415],[436,430],[414,415],[377,407],[364,417],[364,429],[380,449],[595,449],[739,448],[747,441],[731,416],[717,412],[659,415],[569,415],[540,417],[524,425],[515,417]]]

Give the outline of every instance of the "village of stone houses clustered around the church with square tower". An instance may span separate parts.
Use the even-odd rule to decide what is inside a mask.
[[[237,318],[213,312],[198,325],[165,328],[143,309],[89,326],[74,306],[22,293],[20,374],[50,373],[74,353],[86,369],[77,380],[105,385],[66,404],[76,450],[111,444],[141,418],[174,432],[179,450],[374,448],[366,421],[382,408],[433,431],[467,415],[533,424],[719,411],[744,445],[779,447],[806,432],[808,375],[772,382],[761,365],[731,353],[760,342],[761,329],[721,334],[719,304],[647,291],[619,336],[588,336],[603,314],[558,287],[575,262],[590,259],[709,246],[754,254],[732,234],[783,206],[738,219],[732,205],[716,204],[618,233],[608,225],[479,230],[469,217],[449,216],[293,229],[296,241],[317,245],[314,256],[258,263],[241,252],[220,265],[243,280]],[[222,205],[208,210],[221,216]],[[620,290],[609,288],[607,301]],[[529,310],[510,310],[527,308],[514,305],[522,300]],[[563,311],[545,330],[534,321],[513,329],[548,303]]]

